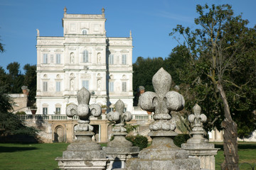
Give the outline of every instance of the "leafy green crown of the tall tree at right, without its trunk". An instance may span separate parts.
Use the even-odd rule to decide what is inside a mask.
[[[208,130],[220,129],[220,123],[231,115],[238,124],[238,136],[250,136],[256,129],[256,28],[247,28],[248,21],[233,16],[229,5],[198,5],[196,10],[199,28],[178,25],[170,34],[178,33],[184,38],[170,60],[180,56],[183,63],[176,65],[175,72],[179,73],[186,109],[191,110],[195,103],[202,106],[208,116]],[[225,93],[228,116],[224,114],[227,104],[218,86]]]

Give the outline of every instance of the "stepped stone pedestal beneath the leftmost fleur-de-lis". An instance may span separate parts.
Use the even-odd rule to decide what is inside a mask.
[[[106,153],[92,142],[93,132],[76,132],[77,141],[68,145],[63,157],[58,157],[60,169],[106,169]]]

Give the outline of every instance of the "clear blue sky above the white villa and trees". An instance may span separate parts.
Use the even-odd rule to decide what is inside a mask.
[[[256,24],[255,0],[1,0],[0,36],[6,52],[0,66],[11,62],[36,64],[36,28],[41,36],[63,36],[61,19],[67,13],[101,13],[105,8],[107,37],[129,37],[132,30],[133,62],[137,57],[168,57],[177,42],[169,33],[177,24],[195,28],[196,4],[230,4],[235,15]]]

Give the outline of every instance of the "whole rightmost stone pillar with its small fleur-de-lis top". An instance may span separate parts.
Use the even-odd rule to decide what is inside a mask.
[[[182,149],[188,151],[188,157],[200,159],[201,169],[215,170],[215,157],[218,149],[214,148],[214,144],[208,143],[206,138],[203,138],[203,122],[206,121],[206,115],[201,114],[201,107],[196,104],[193,107],[193,113],[188,116],[189,122],[193,123],[191,135],[185,144],[181,145]]]

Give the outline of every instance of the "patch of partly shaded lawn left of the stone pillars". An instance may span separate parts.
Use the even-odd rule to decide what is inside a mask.
[[[67,143],[0,144],[0,169],[58,169],[56,157],[62,157]]]

